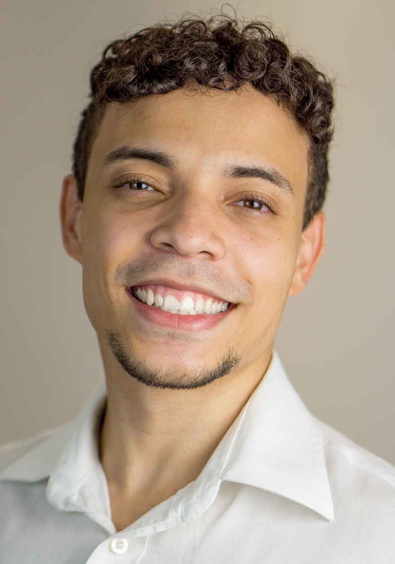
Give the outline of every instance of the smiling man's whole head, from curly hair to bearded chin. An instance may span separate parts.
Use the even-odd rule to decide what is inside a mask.
[[[266,25],[212,18],[113,42],[91,87],[62,224],[104,356],[163,387],[263,365],[322,251],[331,82]],[[161,320],[138,287],[230,305]]]

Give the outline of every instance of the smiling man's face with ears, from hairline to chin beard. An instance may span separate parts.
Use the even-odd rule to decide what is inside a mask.
[[[319,217],[302,233],[308,148],[252,89],[108,105],[84,202],[72,177],[62,200],[104,359],[163,387],[262,374],[321,253]]]

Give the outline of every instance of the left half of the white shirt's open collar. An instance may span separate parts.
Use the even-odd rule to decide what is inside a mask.
[[[103,381],[74,421],[54,429],[42,440],[38,437],[38,444],[6,466],[0,481],[37,482],[49,478],[46,493],[51,505],[90,514],[108,532],[115,532],[106,475],[98,454],[98,431],[105,404]]]

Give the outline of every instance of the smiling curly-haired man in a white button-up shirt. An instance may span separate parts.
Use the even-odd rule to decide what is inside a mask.
[[[116,41],[63,184],[107,393],[1,452],[1,562],[395,562],[395,472],[273,342],[324,245],[331,82],[264,25]]]

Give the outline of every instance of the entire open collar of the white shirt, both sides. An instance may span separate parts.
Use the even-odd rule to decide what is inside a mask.
[[[52,505],[63,510],[84,510],[84,505],[86,510],[88,506],[87,513],[95,514],[95,520],[111,530],[107,482],[97,444],[105,394],[103,382],[72,424],[43,438],[8,465],[0,479],[34,482],[50,477],[47,495]],[[224,480],[287,497],[329,521],[333,519],[321,430],[293,389],[276,353],[203,472],[177,492],[170,504],[164,503],[163,517],[169,518],[169,507],[181,507],[182,519],[203,513]],[[105,492],[102,498],[95,495],[98,487]],[[81,490],[85,492],[82,496]],[[139,527],[152,526],[150,514],[139,519]]]

